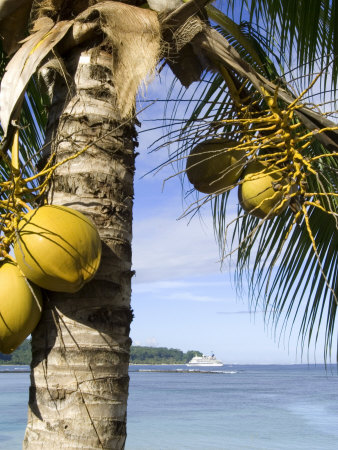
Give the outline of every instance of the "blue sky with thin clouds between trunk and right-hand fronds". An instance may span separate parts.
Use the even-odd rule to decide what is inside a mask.
[[[147,99],[165,99],[172,75],[164,72],[148,86]],[[139,110],[148,103],[142,98]],[[163,117],[159,101],[139,114],[140,153],[136,159],[133,222],[132,308],[134,345],[214,352],[225,364],[295,364],[323,361],[322,340],[302,356],[297,333],[274,333],[262,310],[250,311],[245,293],[236,295],[233,266],[221,267],[210,206],[200,217],[180,218],[187,207],[171,166],[148,173],[167,158],[167,148],[151,152],[164,129],[146,132]],[[170,178],[172,177],[172,178]],[[164,180],[169,178],[165,183]],[[232,198],[236,209],[237,196]],[[189,220],[191,219],[191,220]]]

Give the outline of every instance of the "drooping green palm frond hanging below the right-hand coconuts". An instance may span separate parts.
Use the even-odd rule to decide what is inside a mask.
[[[326,152],[316,142],[311,150]],[[325,167],[317,176],[308,176],[309,191],[337,193],[338,158],[328,155],[318,161]],[[296,224],[290,210],[273,221],[262,221],[243,215],[239,208],[234,227],[226,220],[228,193],[219,197],[213,200],[214,224],[222,257],[237,250],[238,292],[244,283],[252,302],[263,306],[267,320],[281,324],[281,331],[288,324],[291,329],[295,327],[300,318],[297,327],[302,348],[311,340],[317,342],[321,329],[325,329],[324,358],[330,359],[338,297],[337,197],[320,196],[325,206],[311,206],[307,221]],[[225,248],[227,234],[230,250]],[[337,357],[338,348],[335,353]]]

